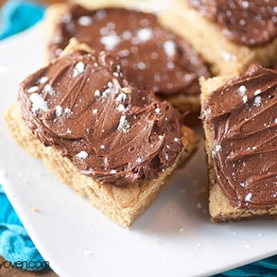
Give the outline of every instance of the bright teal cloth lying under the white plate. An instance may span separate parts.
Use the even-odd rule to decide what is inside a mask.
[[[19,33],[42,19],[44,6],[11,0],[2,8],[0,39]],[[6,260],[39,260],[40,256],[0,186],[0,254]],[[25,268],[26,269],[26,268]],[[39,268],[35,268],[39,270]],[[28,268],[30,270],[30,268]],[[1,271],[0,271],[1,273]],[[0,274],[1,275],[1,274]],[[213,277],[276,277],[277,256],[253,262]]]

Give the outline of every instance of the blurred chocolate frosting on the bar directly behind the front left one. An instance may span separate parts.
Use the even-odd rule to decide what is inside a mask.
[[[71,37],[96,51],[121,57],[129,83],[154,89],[163,96],[197,96],[198,78],[209,75],[193,48],[165,30],[149,13],[124,8],[86,10],[71,5],[55,27],[49,56],[59,55]]]

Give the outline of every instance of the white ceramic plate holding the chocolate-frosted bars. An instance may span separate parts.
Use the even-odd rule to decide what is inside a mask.
[[[16,101],[19,82],[42,65],[43,44],[40,25],[0,44],[1,114]],[[129,229],[116,226],[15,145],[3,120],[0,182],[60,276],[208,276],[277,253],[274,220],[211,224],[203,148],[201,143],[175,183]]]

